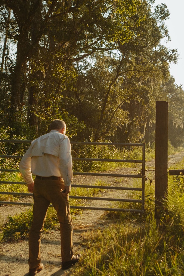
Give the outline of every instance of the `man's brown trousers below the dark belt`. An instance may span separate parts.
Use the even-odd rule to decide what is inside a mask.
[[[60,190],[65,189],[63,181],[35,179],[33,189],[33,221],[29,232],[29,266],[34,268],[41,262],[40,243],[41,233],[50,203],[57,211],[61,231],[62,261],[70,261],[73,257],[72,219],[70,215],[69,197]]]

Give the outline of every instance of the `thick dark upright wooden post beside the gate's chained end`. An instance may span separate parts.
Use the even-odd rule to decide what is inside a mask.
[[[168,102],[156,102],[155,216],[159,217],[167,195]]]

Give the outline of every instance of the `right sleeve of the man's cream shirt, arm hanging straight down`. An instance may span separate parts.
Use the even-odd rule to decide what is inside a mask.
[[[65,186],[71,185],[73,178],[71,145],[68,136],[60,142],[59,147],[59,170],[63,177]]]

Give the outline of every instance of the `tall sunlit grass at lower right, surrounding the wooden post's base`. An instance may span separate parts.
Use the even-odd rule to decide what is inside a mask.
[[[183,176],[169,177],[159,220],[154,218],[154,187],[147,185],[151,200],[145,199],[145,214],[109,214],[113,223],[84,233],[82,266],[79,262],[71,275],[184,275],[183,187]]]

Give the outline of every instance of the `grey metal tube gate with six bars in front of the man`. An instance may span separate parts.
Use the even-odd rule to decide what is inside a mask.
[[[24,143],[30,144],[31,141],[25,140],[0,140],[1,143]],[[71,187],[79,188],[92,188],[92,189],[106,189],[106,190],[121,190],[121,191],[141,191],[142,196],[141,200],[139,199],[130,199],[130,198],[103,198],[103,197],[80,197],[80,196],[69,196],[69,198],[83,199],[83,200],[104,200],[104,201],[116,201],[116,202],[135,202],[141,203],[141,209],[123,209],[123,208],[101,208],[94,206],[70,206],[72,209],[91,209],[91,210],[104,210],[104,211],[125,211],[125,212],[144,212],[145,205],[145,144],[124,144],[124,143],[97,143],[97,142],[71,142],[71,145],[98,145],[98,146],[116,146],[116,147],[142,147],[142,160],[122,160],[122,159],[98,159],[98,158],[72,158],[73,161],[101,161],[101,162],[124,162],[124,163],[142,163],[142,170],[139,174],[110,174],[110,173],[93,173],[93,172],[74,172],[74,175],[87,175],[87,176],[106,176],[106,177],[131,177],[131,178],[142,178],[142,187],[141,188],[132,188],[132,187],[114,187],[114,186],[94,186],[94,185],[75,185],[72,184]],[[0,158],[22,158],[18,155],[0,155]],[[19,172],[18,169],[2,169],[1,172]],[[1,179],[0,179],[1,180]],[[0,184],[23,184],[26,182],[15,182],[15,181],[0,181]],[[31,193],[13,193],[13,192],[0,192],[4,195],[18,195],[18,196],[32,196]],[[15,202],[15,201],[0,201],[0,204],[8,205],[33,205],[33,203],[28,202]]]

